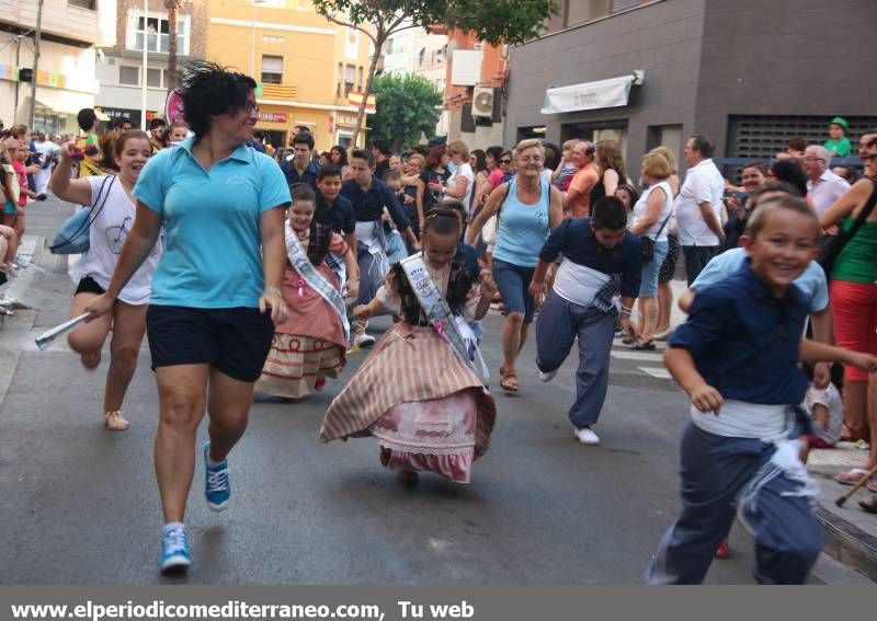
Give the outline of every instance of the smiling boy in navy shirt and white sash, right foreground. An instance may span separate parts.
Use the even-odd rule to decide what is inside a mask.
[[[800,360],[877,370],[877,357],[801,341],[809,304],[791,283],[818,253],[813,210],[766,200],[741,238],[748,261],[697,291],[671,338],[667,368],[692,400],[682,435],[682,514],[648,570],[650,584],[699,584],[740,506],[755,533],[754,577],[804,584],[824,542],[817,485],[791,439],[807,378]]]

